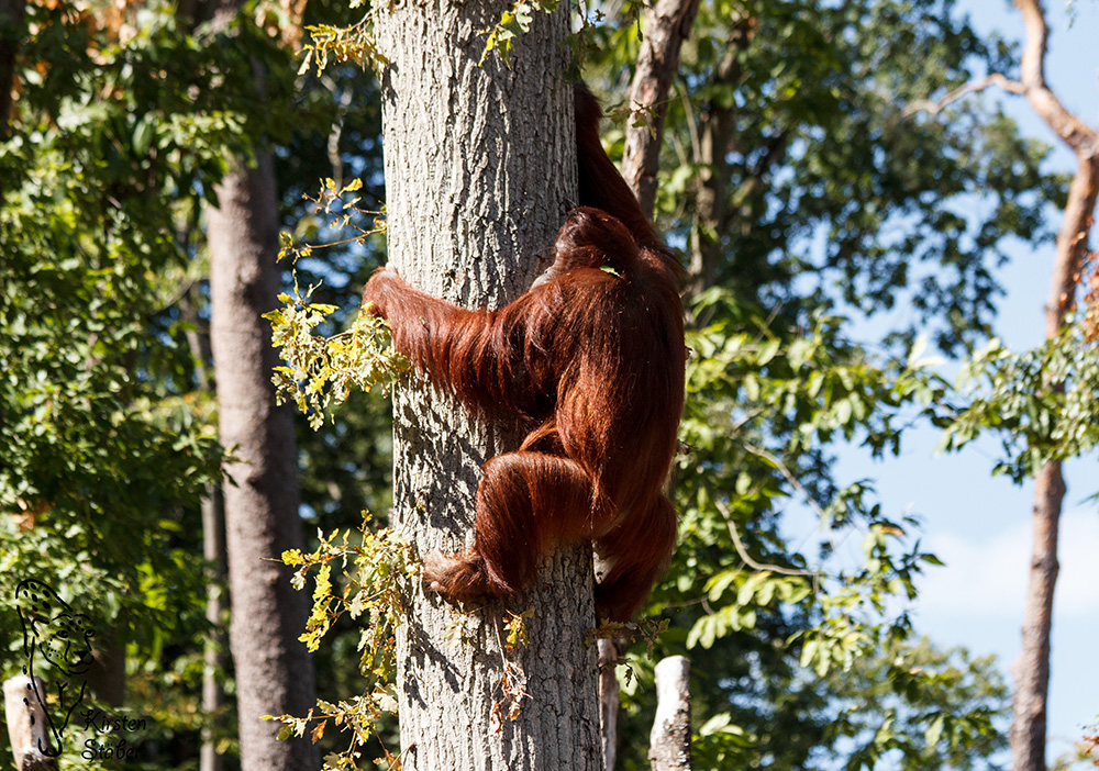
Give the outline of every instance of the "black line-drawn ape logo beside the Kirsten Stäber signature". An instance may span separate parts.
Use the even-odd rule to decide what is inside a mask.
[[[76,613],[57,592],[41,581],[27,579],[15,588],[15,607],[23,625],[23,655],[26,664],[23,673],[29,677],[24,704],[37,703],[45,716],[46,730],[36,731],[53,740],[38,739],[37,750],[45,756],[62,753],[63,735],[88,688],[85,674],[91,667],[91,638],[95,630],[82,613]],[[46,666],[48,662],[49,666]],[[46,706],[46,686],[41,672],[48,670],[56,688],[57,703]],[[38,675],[38,677],[36,677]],[[37,712],[35,709],[34,712]],[[32,723],[34,718],[32,717]],[[46,744],[43,747],[41,745]]]

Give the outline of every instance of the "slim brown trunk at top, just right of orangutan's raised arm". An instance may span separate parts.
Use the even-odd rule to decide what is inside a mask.
[[[630,109],[643,110],[647,120],[625,130],[622,176],[652,215],[656,204],[656,174],[660,167],[664,116],[668,90],[679,69],[679,52],[698,14],[699,0],[657,0],[645,12],[645,37],[630,87]]]

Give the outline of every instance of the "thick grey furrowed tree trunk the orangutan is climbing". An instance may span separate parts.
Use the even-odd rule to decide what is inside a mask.
[[[573,94],[565,82],[568,7],[535,13],[511,53],[478,67],[507,2],[398,0],[379,12],[389,259],[419,288],[469,306],[500,306],[548,261],[576,200]],[[541,259],[540,259],[541,258]],[[480,465],[518,446],[413,379],[393,394],[393,518],[421,558],[471,539]],[[503,607],[458,614],[419,582],[398,636],[402,768],[601,768],[590,548],[563,549],[510,603],[534,608],[529,642],[501,652]],[[529,696],[514,719],[502,660]],[[501,712],[504,715],[501,715]],[[493,717],[493,714],[497,717]]]

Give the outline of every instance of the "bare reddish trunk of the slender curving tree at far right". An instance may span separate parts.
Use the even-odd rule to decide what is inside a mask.
[[[1076,153],[1077,171],[1068,191],[1065,219],[1045,306],[1045,334],[1056,337],[1072,310],[1080,267],[1088,249],[1091,217],[1099,194],[1099,136],[1069,113],[1045,80],[1048,31],[1039,0],[1015,0],[1026,26],[1021,63],[1022,92],[1034,111]],[[1054,389],[1062,383],[1051,383]],[[1046,715],[1050,691],[1050,635],[1057,581],[1057,535],[1065,481],[1061,463],[1047,462],[1034,481],[1033,545],[1030,584],[1023,616],[1022,652],[1012,667],[1015,693],[1010,731],[1014,771],[1045,771]]]

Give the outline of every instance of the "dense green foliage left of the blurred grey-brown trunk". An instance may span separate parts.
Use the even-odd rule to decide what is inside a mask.
[[[193,534],[220,456],[191,399],[174,298],[196,182],[220,172],[220,148],[237,136],[200,88],[232,52],[196,45],[163,9],[96,10],[34,4],[4,27],[16,45],[0,150],[3,667],[25,663],[13,590],[36,578],[97,639],[140,651],[115,684],[127,708],[157,719],[130,741],[174,763],[198,727]],[[200,96],[184,102],[165,82]]]

